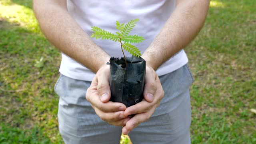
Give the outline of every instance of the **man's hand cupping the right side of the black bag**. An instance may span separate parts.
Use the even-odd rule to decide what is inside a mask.
[[[156,72],[146,66],[146,84],[144,87],[144,99],[142,102],[126,108],[125,116],[136,114],[132,117],[122,129],[122,133],[127,135],[132,129],[136,128],[140,123],[147,121],[155,109],[160,105],[160,101],[164,98],[164,90]]]

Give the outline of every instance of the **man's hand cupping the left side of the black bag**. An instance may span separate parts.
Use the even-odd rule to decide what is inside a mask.
[[[102,66],[87,89],[86,100],[92,104],[96,114],[104,121],[115,126],[124,126],[130,118],[124,115],[126,106],[110,102],[109,65]]]

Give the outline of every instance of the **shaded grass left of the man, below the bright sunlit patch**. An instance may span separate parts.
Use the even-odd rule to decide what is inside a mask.
[[[62,142],[53,90],[59,62],[60,53],[42,34],[0,18],[1,144],[48,144],[52,135]]]

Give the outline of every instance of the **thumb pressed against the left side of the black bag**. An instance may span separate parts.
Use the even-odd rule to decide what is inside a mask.
[[[109,69],[103,70],[97,75],[98,86],[97,90],[100,95],[100,100],[102,102],[108,102],[110,100],[111,91],[109,86]]]

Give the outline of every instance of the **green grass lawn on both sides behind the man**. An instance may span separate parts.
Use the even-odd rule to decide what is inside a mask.
[[[185,51],[193,144],[255,144],[256,0],[212,0]],[[40,32],[32,0],[0,0],[0,143],[58,144],[60,52]],[[121,144],[129,144],[122,136]]]

